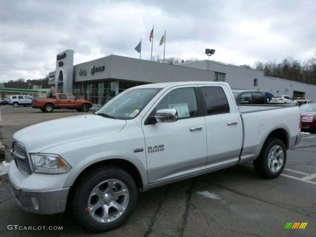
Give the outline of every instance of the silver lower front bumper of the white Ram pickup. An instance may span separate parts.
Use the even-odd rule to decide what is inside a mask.
[[[36,214],[56,214],[66,209],[69,187],[48,191],[17,190],[13,185],[12,194],[22,210]]]

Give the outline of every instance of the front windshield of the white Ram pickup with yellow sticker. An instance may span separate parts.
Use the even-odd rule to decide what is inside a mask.
[[[161,88],[131,88],[102,106],[95,114],[113,119],[133,119]]]

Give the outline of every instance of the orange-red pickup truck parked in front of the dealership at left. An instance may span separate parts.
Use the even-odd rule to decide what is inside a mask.
[[[78,112],[88,112],[92,107],[90,100],[80,100],[73,94],[56,93],[53,98],[33,99],[32,108],[43,112],[53,112],[54,109],[76,109]]]

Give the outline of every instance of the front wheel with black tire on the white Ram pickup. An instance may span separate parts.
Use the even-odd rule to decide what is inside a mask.
[[[123,224],[137,202],[137,186],[125,170],[97,167],[76,181],[70,199],[77,221],[95,232],[104,232]]]

